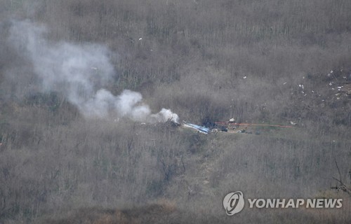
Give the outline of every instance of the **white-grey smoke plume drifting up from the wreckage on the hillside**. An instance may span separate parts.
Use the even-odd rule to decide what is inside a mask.
[[[114,116],[147,123],[178,123],[178,115],[169,109],[152,114],[139,92],[124,90],[114,96],[102,88],[114,75],[111,52],[104,46],[51,43],[45,35],[46,27],[21,21],[13,22],[9,36],[15,49],[31,60],[43,92],[64,93],[86,118]]]

